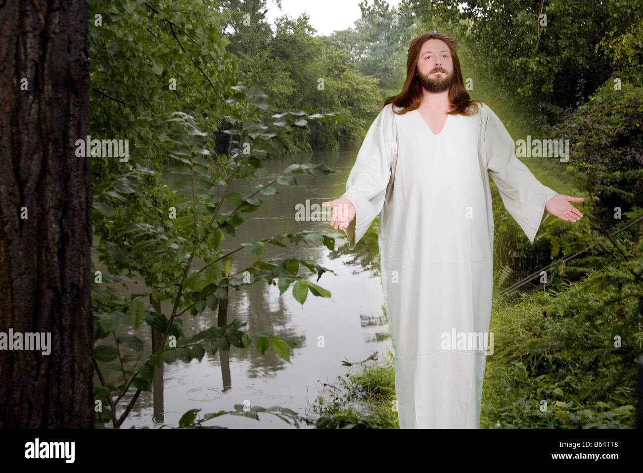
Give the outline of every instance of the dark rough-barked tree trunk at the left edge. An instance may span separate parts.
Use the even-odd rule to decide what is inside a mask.
[[[51,333],[0,350],[4,428],[93,427],[88,28],[86,0],[0,0],[0,332]]]

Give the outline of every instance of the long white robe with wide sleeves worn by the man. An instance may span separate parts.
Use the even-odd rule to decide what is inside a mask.
[[[356,209],[345,230],[350,250],[381,212],[381,279],[401,429],[480,427],[485,346],[455,346],[455,340],[445,346],[444,334],[462,332],[468,339],[489,332],[487,172],[531,242],[549,215],[545,203],[556,195],[514,149],[486,104],[476,115],[448,115],[437,135],[417,110],[397,115],[389,104],[368,129],[350,171],[342,196]]]

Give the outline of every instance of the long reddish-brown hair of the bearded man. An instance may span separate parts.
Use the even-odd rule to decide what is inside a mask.
[[[406,112],[417,109],[422,102],[422,83],[419,77],[415,75],[417,72],[417,60],[422,50],[422,44],[430,39],[439,39],[444,42],[451,52],[451,59],[453,59],[453,82],[449,86],[449,102],[451,103],[451,111],[449,115],[475,115],[478,113],[478,105],[481,104],[480,100],[471,100],[469,93],[464,88],[464,80],[462,79],[462,71],[460,70],[460,60],[455,52],[455,48],[451,42],[445,40],[448,38],[445,35],[437,32],[425,33],[419,38],[418,41],[412,42],[408,51],[406,59],[406,80],[401,93],[392,97],[386,98],[384,106],[393,104],[401,110],[396,110],[393,107],[394,113],[403,115]],[[477,103],[476,103],[477,102]]]

